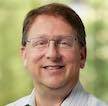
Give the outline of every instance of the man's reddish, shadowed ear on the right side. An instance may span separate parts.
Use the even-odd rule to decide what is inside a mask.
[[[80,68],[84,68],[87,57],[86,47],[80,49]]]

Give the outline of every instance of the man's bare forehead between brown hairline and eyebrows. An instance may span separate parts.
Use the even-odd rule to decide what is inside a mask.
[[[69,35],[74,28],[61,16],[39,15],[31,25],[28,35]]]

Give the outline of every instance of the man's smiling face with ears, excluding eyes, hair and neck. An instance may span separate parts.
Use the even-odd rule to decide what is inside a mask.
[[[67,36],[75,37],[75,30],[60,17],[40,15],[36,18],[28,32],[28,40],[55,39]],[[37,86],[61,88],[72,85],[79,78],[79,70],[84,67],[86,53],[80,48],[75,39],[70,48],[57,47],[55,41],[50,40],[45,48],[33,47],[28,42],[22,50],[24,65],[31,73]],[[36,44],[35,44],[36,45]],[[39,43],[43,45],[43,43]]]

